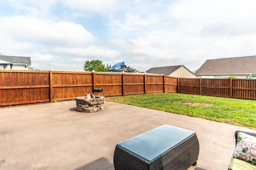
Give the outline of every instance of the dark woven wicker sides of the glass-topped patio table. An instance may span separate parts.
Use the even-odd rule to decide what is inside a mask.
[[[199,142],[196,133],[150,161],[117,144],[114,151],[114,168],[115,170],[187,170],[198,160],[198,154]]]

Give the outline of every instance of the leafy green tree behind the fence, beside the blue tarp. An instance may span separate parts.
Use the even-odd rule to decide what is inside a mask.
[[[111,68],[111,65],[108,66],[103,64],[101,60],[99,59],[93,59],[91,61],[87,60],[84,63],[84,71],[98,71],[98,72],[107,72],[108,69]]]

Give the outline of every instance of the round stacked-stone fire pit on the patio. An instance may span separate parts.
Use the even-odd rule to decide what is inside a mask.
[[[76,97],[76,111],[84,113],[99,112],[104,109],[105,97],[95,96],[95,99],[87,99],[87,96]]]

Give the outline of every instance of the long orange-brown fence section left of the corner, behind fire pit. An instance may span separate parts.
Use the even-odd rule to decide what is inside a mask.
[[[75,99],[103,89],[103,96],[177,92],[178,78],[166,75],[1,70],[0,106]]]

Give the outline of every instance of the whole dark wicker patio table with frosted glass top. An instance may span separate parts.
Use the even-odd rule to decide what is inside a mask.
[[[196,133],[163,125],[116,145],[115,170],[187,170],[199,154]]]

